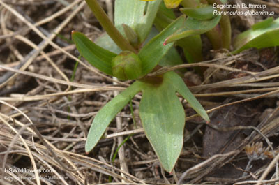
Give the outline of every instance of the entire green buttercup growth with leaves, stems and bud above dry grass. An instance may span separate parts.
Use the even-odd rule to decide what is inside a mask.
[[[96,0],[86,2],[107,33],[93,43],[84,34],[73,31],[72,38],[77,50],[103,73],[118,77],[119,80],[135,82],[98,112],[91,125],[85,150],[89,152],[96,146],[116,114],[130,98],[142,92],[140,118],[146,137],[163,168],[171,172],[183,147],[186,117],[176,93],[183,96],[203,119],[209,121],[209,117],[178,73],[170,71],[158,76],[150,76],[148,73],[160,66],[182,63],[174,48],[174,42],[183,49],[188,62],[202,61],[200,34],[209,36],[215,49],[229,49],[229,18],[225,15],[214,15],[214,8],[211,6],[213,3],[220,4],[225,1],[165,0],[164,4],[162,0],[116,0],[114,24]],[[184,7],[181,8],[181,13],[185,15],[176,18],[169,8],[175,8],[179,3]],[[156,29],[152,29],[153,24]],[[266,20],[265,23],[255,26],[255,29],[264,27],[265,30],[270,30],[266,28],[269,25],[270,20]],[[243,36],[236,39],[236,52],[255,46],[248,45],[252,38],[248,42],[243,41],[243,37],[250,35],[250,32],[243,33]],[[266,31],[259,35],[264,34]],[[264,47],[267,45],[269,43],[266,42]]]

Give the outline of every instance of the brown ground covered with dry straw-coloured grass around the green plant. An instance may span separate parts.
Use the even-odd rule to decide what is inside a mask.
[[[113,1],[100,3],[112,17]],[[272,5],[276,1],[266,3],[278,17]],[[264,18],[231,17],[233,37]],[[279,181],[277,47],[223,57],[204,45],[204,59],[215,58],[212,64],[243,72],[208,68],[201,76],[189,68],[185,73],[185,82],[209,110],[211,123],[196,117],[181,99],[188,116],[184,145],[169,174],[144,135],[140,95],[133,99],[137,128],[127,105],[96,148],[85,154],[94,116],[129,82],[113,80],[77,59],[70,32],[82,31],[92,40],[103,33],[84,1],[0,0],[0,24],[0,184]],[[205,36],[203,40],[208,43]],[[132,133],[112,162],[117,146]]]

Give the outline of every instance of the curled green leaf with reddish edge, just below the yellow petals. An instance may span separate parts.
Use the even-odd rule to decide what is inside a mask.
[[[205,32],[216,27],[218,22],[220,22],[221,15],[217,15],[211,20],[197,20],[193,17],[188,17],[186,22],[184,22],[183,27],[178,29],[174,34],[169,36],[165,40],[165,44],[172,43],[175,40],[179,40],[181,38],[186,38],[188,36],[195,36],[199,34],[204,34]]]

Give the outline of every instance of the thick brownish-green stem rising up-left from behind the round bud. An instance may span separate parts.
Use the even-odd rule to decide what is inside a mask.
[[[126,38],[120,34],[116,27],[114,27],[114,24],[112,24],[110,18],[107,17],[107,14],[97,0],[86,0],[86,3],[102,27],[105,29],[105,31],[107,31],[107,34],[110,36],[110,38],[112,38],[112,40],[114,40],[114,43],[116,43],[116,45],[118,45],[121,50],[128,50],[137,53],[137,50],[135,50],[135,48],[130,45],[130,43],[128,43],[128,40],[126,40]]]

